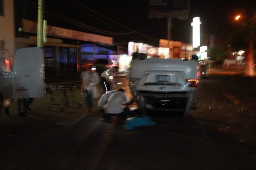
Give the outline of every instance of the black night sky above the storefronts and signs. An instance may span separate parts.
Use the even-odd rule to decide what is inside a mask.
[[[37,21],[37,3],[15,0],[17,28],[22,17]],[[167,39],[167,20],[148,18],[148,0],[44,0],[44,4],[48,25],[114,37],[114,42],[158,44]],[[191,0],[188,20],[173,20],[172,40],[192,42],[193,17],[200,17],[201,34],[228,34],[237,14],[247,20],[255,12],[256,0]],[[84,25],[77,26],[80,23]]]

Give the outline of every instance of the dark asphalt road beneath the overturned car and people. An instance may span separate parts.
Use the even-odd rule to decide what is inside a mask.
[[[131,95],[127,81],[118,81]],[[99,111],[88,115],[83,103],[49,111],[49,93],[35,99],[25,118],[17,116],[14,102],[10,116],[0,120],[0,169],[254,170],[255,89],[255,79],[212,72],[202,79],[189,116],[153,114],[157,125],[133,130],[100,122]],[[79,85],[73,96],[83,102]]]

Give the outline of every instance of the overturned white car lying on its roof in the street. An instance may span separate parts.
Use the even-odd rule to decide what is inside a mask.
[[[155,110],[185,116],[197,92],[199,68],[195,59],[133,59],[127,78],[144,114]]]

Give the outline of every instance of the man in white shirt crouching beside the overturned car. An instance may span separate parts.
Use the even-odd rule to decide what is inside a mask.
[[[128,105],[132,105],[135,98],[128,102],[124,92],[124,89],[119,88],[109,96],[106,105],[103,106],[104,112],[102,113],[102,117],[104,119],[101,119],[102,122],[110,120],[111,117],[118,117],[121,122],[124,122],[130,116],[131,111]]]

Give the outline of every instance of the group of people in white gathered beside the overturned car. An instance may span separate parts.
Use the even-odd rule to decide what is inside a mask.
[[[124,121],[130,116],[130,109],[128,105],[132,105],[135,98],[128,101],[125,96],[123,88],[116,88],[116,82],[114,76],[118,68],[106,69],[99,77],[96,69],[93,67],[87,67],[86,71],[81,73],[82,86],[84,99],[88,106],[88,113],[90,114],[93,108],[93,99],[99,97],[98,85],[101,82],[102,88],[105,93],[101,96],[98,102],[98,109],[100,109],[102,119],[105,122],[112,117],[118,117],[120,121]],[[101,81],[100,81],[101,80]]]

